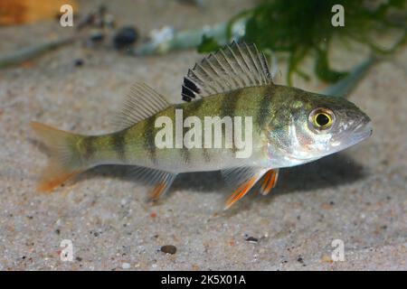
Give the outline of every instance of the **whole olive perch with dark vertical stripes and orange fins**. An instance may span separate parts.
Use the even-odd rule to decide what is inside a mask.
[[[371,119],[345,98],[274,83],[255,44],[232,42],[187,71],[183,102],[145,83],[130,89],[118,130],[80,135],[32,122],[50,151],[39,191],[52,191],[99,165],[132,166],[150,200],[183,172],[221,171],[232,188],[227,210],[256,183],[275,187],[279,169],[316,161],[372,135]]]

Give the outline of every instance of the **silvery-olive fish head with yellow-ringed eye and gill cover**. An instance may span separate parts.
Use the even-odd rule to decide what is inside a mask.
[[[352,102],[299,91],[270,122],[270,161],[274,154],[280,166],[308,163],[372,135],[370,118]]]

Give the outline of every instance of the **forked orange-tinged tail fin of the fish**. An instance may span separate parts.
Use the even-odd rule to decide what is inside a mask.
[[[37,122],[31,122],[30,125],[50,151],[50,160],[43,170],[38,191],[52,191],[75,174],[83,171],[80,152],[77,149],[78,141],[82,136]]]

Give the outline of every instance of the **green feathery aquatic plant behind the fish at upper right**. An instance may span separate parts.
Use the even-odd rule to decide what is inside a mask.
[[[344,7],[344,26],[335,27],[331,23],[335,14],[332,12],[334,5]],[[309,78],[300,69],[300,63],[309,55],[314,59],[317,77],[327,82],[336,82],[348,72],[334,70],[328,61],[333,38],[337,36],[345,42],[362,42],[374,53],[392,52],[406,41],[405,6],[405,0],[380,3],[358,0],[263,0],[259,5],[234,16],[227,23],[226,33],[227,38],[232,39],[233,27],[244,19],[241,40],[254,42],[263,51],[287,54],[289,84],[294,73]],[[401,31],[402,37],[390,49],[379,48],[372,33],[377,37],[393,29]],[[198,51],[215,51],[217,47],[214,37],[204,37],[198,45]]]

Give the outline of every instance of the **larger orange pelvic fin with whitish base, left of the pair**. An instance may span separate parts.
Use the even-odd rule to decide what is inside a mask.
[[[224,210],[228,210],[236,201],[241,200],[266,172],[267,169],[258,167],[237,167],[222,170],[226,182],[233,188],[236,188],[232,196],[226,201]]]

